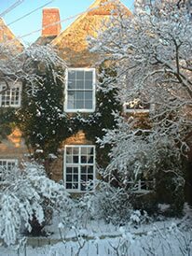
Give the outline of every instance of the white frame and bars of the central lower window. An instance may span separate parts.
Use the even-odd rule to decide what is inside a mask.
[[[78,148],[78,163],[71,163],[71,164],[67,164],[66,163],[66,156],[67,156],[67,154],[66,154],[66,149],[67,148]],[[81,154],[80,154],[80,150],[82,149],[82,148],[92,148],[93,149],[93,163],[92,164],[85,164],[85,163],[81,163],[79,160],[80,160],[80,157],[81,157]],[[64,180],[64,186],[65,186],[65,188],[66,188],[66,183],[67,183],[67,179],[66,179],[66,176],[67,176],[67,172],[66,172],[66,168],[67,168],[67,166],[71,166],[71,167],[77,167],[78,168],[78,182],[77,182],[77,184],[78,184],[78,188],[77,189],[67,189],[66,188],[66,191],[67,192],[78,192],[78,193],[80,193],[80,192],[94,192],[94,190],[95,190],[95,178],[96,178],[96,168],[95,168],[95,145],[65,145],[64,146],[64,157],[63,157],[63,180]],[[93,177],[93,179],[92,179],[92,183],[93,183],[93,185],[92,185],[92,190],[90,190],[90,191],[82,191],[81,190],[81,179],[80,179],[80,177],[81,177],[81,166],[92,166],[93,167],[93,171],[92,171],[92,173],[91,173],[91,175],[92,175],[92,177]]]

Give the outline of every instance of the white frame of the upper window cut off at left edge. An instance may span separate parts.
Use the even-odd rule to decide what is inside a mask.
[[[10,83],[10,82],[9,82]],[[6,83],[4,81],[0,81],[0,92],[3,90],[3,86],[6,86]],[[12,89],[14,88],[19,88],[19,102],[18,104],[11,104],[11,96],[12,96]],[[2,95],[3,93],[0,93],[0,107],[21,107],[21,92],[22,92],[22,84],[21,82],[11,82],[9,88],[7,89],[7,91],[10,90],[10,94],[9,94],[9,104],[8,105],[3,105],[2,106]],[[7,92],[5,91],[5,92]]]

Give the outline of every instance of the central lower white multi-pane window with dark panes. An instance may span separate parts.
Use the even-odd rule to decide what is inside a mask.
[[[95,147],[70,145],[64,149],[64,183],[69,192],[94,190]]]

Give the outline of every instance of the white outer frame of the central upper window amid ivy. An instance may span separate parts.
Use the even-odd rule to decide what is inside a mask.
[[[68,74],[69,71],[91,71],[92,72],[92,108],[68,108]],[[83,90],[82,90],[83,91]],[[88,90],[90,91],[90,90]],[[85,92],[85,89],[84,89]],[[96,107],[96,69],[88,67],[78,67],[78,68],[67,68],[65,73],[65,88],[64,88],[64,111],[67,113],[92,113],[95,111]]]

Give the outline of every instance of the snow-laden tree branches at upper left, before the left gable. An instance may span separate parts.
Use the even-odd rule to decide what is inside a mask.
[[[0,78],[7,84],[5,90],[17,81],[27,81],[33,86],[40,78],[36,74],[37,68],[44,70],[53,64],[65,66],[56,50],[50,46],[34,44],[19,50],[14,40],[0,43]]]

